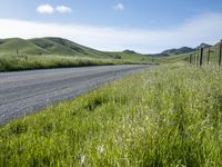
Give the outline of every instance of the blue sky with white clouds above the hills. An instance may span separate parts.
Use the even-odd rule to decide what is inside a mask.
[[[0,38],[155,53],[222,39],[221,0],[0,0]]]

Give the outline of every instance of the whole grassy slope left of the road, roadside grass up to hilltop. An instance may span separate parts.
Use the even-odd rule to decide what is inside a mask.
[[[99,51],[62,38],[0,40],[0,71],[147,62],[139,53]]]

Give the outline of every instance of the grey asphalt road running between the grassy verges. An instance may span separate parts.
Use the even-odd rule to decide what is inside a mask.
[[[151,66],[100,66],[0,72],[0,125],[148,68]]]

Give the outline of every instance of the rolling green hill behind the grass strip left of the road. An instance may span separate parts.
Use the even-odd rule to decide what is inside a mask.
[[[0,55],[56,55],[56,56],[71,56],[71,57],[88,57],[88,58],[104,58],[104,59],[127,59],[150,61],[149,57],[141,53],[127,53],[127,52],[108,52],[99,51],[89,47],[78,45],[73,41],[56,38],[34,38],[34,39],[1,39],[0,40]]]

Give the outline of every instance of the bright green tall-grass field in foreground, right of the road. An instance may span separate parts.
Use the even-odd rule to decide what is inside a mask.
[[[0,129],[0,166],[222,166],[222,69],[161,66]]]

